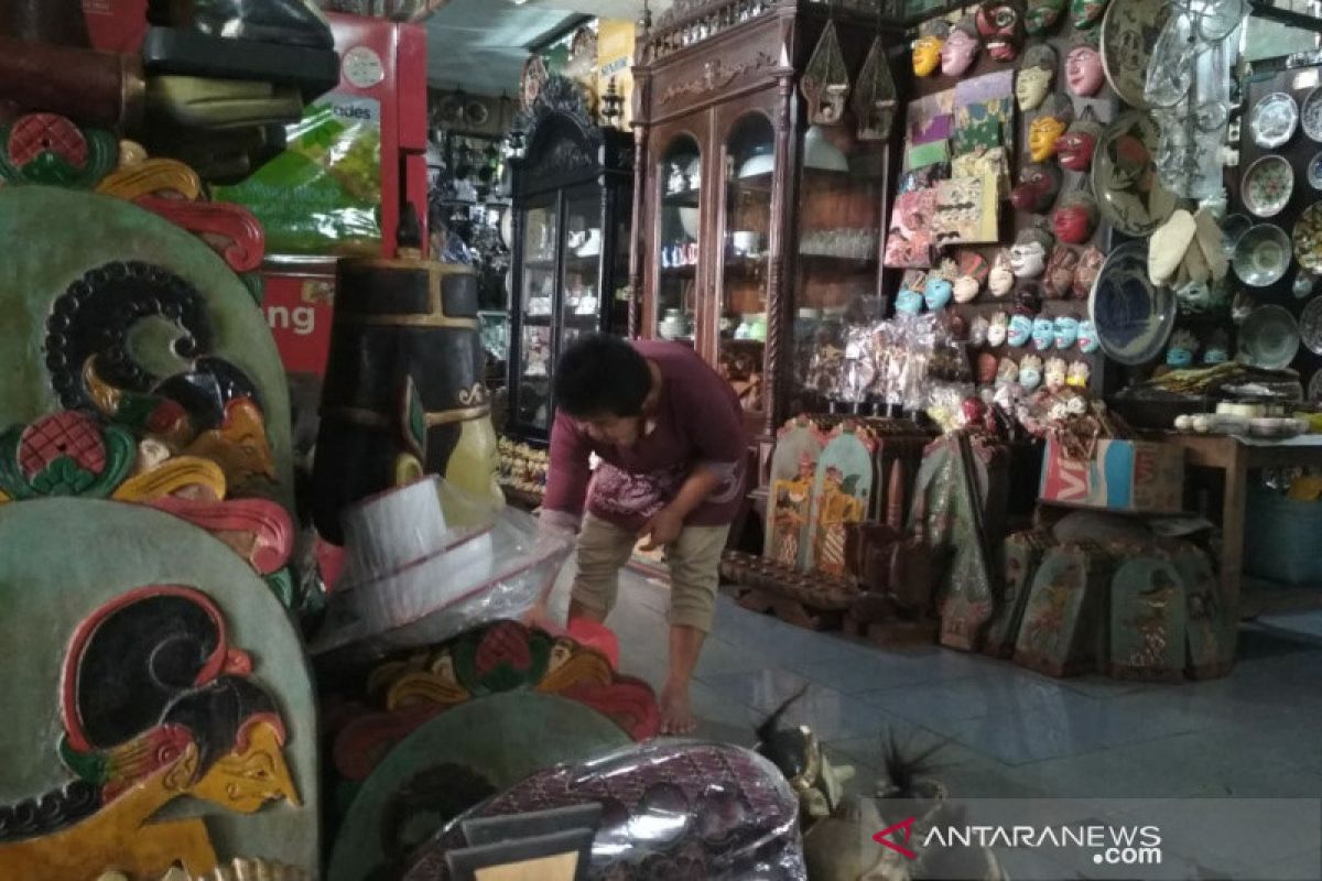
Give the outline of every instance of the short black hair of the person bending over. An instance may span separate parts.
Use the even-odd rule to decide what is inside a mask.
[[[579,337],[555,365],[555,405],[575,419],[640,416],[650,391],[648,359],[611,334]]]

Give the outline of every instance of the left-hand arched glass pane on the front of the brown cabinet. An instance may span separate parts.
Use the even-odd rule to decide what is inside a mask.
[[[702,153],[681,135],[670,141],[657,169],[661,217],[657,218],[656,328],[662,339],[693,343],[698,306],[698,239],[701,236]]]

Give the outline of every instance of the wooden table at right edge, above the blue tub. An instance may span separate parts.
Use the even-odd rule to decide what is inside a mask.
[[[1284,441],[1239,439],[1228,435],[1163,432],[1153,440],[1183,446],[1186,465],[1225,473],[1222,503],[1222,596],[1239,609],[1240,618],[1322,606],[1322,585],[1241,590],[1244,568],[1244,509],[1248,473],[1259,468],[1322,465],[1322,435],[1301,435]],[[1322,536],[1319,536],[1322,539]]]

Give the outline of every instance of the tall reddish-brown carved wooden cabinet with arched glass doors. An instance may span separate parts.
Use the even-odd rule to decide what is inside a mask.
[[[857,87],[875,16],[813,3],[680,0],[635,69],[631,333],[693,345],[752,437],[802,405],[806,361],[846,313],[882,313],[892,149],[859,140],[851,110],[809,125],[800,91],[830,20]]]

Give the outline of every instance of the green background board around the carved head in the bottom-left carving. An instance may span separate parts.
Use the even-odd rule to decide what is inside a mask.
[[[103,779],[104,754],[63,750],[62,664],[78,626],[143,585],[198,590],[225,619],[230,646],[251,654],[251,679],[284,724],[282,748],[299,804],[270,802],[254,814],[188,799],[172,816],[200,816],[222,859],[260,855],[319,876],[316,704],[301,643],[279,601],[229,547],[202,530],[140,505],[46,498],[0,505],[0,645],[9,675],[0,686],[0,804],[41,796],[78,777]],[[70,552],[71,548],[95,552]],[[116,759],[118,761],[118,759]],[[152,818],[144,826],[164,822]],[[159,831],[157,831],[159,832]],[[5,843],[0,841],[0,847]]]

